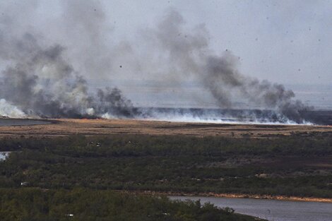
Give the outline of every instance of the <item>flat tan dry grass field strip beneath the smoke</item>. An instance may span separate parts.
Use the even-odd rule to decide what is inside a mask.
[[[278,136],[332,136],[332,126],[198,124],[169,121],[119,119],[51,119],[52,124],[33,126],[0,126],[0,137],[57,137],[81,134],[148,134],[182,136],[223,136],[235,138],[274,138]]]

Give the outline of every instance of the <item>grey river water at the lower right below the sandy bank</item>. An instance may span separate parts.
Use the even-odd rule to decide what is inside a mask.
[[[275,201],[251,198],[216,198],[196,196],[170,196],[173,200],[213,203],[220,208],[230,207],[235,213],[253,215],[271,221],[331,221],[332,203]]]

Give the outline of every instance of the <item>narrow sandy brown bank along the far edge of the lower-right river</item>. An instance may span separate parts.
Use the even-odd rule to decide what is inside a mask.
[[[125,191],[143,194],[160,194],[165,196],[202,196],[215,198],[252,198],[252,199],[268,199],[275,201],[297,201],[297,202],[315,202],[315,203],[332,203],[332,198],[319,197],[300,197],[300,196],[271,196],[258,194],[242,194],[242,193],[181,193],[181,192],[158,192],[158,191]]]

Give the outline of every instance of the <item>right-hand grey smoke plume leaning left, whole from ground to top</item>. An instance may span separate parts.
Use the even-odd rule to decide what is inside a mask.
[[[203,25],[186,32],[182,16],[171,10],[153,32],[162,51],[168,53],[173,69],[201,80],[221,109],[232,109],[234,102],[245,100],[250,106],[273,110],[276,121],[306,121],[304,112],[312,107],[294,100],[292,90],[239,73],[239,59],[227,50],[220,56],[213,54]]]

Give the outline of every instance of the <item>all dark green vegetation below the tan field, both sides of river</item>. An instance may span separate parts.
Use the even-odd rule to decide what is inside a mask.
[[[4,138],[0,220],[254,220],[140,191],[332,198],[332,138]],[[115,192],[117,191],[117,192]],[[126,193],[125,193],[126,192]]]

